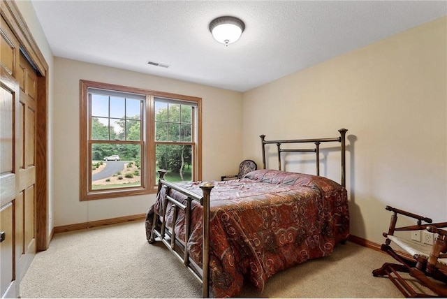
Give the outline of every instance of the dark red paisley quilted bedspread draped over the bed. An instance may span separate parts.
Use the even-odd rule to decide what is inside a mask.
[[[179,186],[202,196],[202,182]],[[309,259],[328,256],[349,235],[346,189],[325,177],[279,170],[255,170],[240,180],[213,182],[210,203],[210,288],[215,297],[233,297],[248,277],[259,289],[274,273]],[[164,196],[163,188],[159,198]],[[171,190],[170,196],[184,201]],[[157,198],[146,217],[149,240]],[[193,202],[191,238],[187,248],[202,261],[202,214]],[[167,207],[167,225],[173,226]],[[177,238],[184,240],[184,214],[179,212]]]

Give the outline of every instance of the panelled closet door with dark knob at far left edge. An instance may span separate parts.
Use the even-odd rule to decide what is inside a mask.
[[[0,296],[18,296],[15,250],[17,238],[17,175],[20,142],[19,84],[16,80],[20,48],[8,24],[0,26]]]

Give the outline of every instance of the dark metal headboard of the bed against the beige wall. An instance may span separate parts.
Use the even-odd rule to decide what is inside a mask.
[[[339,137],[335,138],[310,138],[310,139],[294,139],[294,140],[265,140],[265,135],[261,135],[263,146],[263,168],[265,169],[265,145],[275,143],[278,147],[278,163],[281,170],[281,152],[315,152],[316,153],[316,175],[320,175],[320,143],[340,143],[341,166],[342,166],[342,186],[346,187],[346,131],[347,129],[339,129]],[[284,143],[314,143],[312,149],[281,149]]]

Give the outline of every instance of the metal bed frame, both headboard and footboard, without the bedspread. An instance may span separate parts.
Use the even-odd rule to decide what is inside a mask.
[[[341,184],[346,187],[346,131],[347,129],[339,129],[339,137],[336,138],[312,138],[312,139],[295,139],[295,140],[265,140],[265,135],[261,135],[262,154],[263,154],[263,168],[265,169],[265,145],[276,144],[278,147],[278,161],[279,170],[281,170],[281,152],[315,152],[316,153],[316,175],[320,175],[320,158],[319,158],[319,146],[321,143],[341,143],[341,166],[342,166],[342,179]],[[281,149],[281,144],[288,143],[314,143],[313,149]],[[186,266],[189,272],[202,284],[202,296],[208,298],[210,296],[210,194],[214,187],[212,182],[205,182],[200,186],[203,196],[198,196],[189,190],[177,186],[175,183],[164,180],[166,170],[159,170],[159,187],[157,195],[161,191],[161,188],[166,188],[166,196],[163,200],[163,214],[157,214],[154,212],[154,220],[152,223],[152,231],[149,238],[149,243],[154,243],[156,238],[159,238],[170,251],[179,258]],[[170,189],[184,194],[186,198],[186,205],[180,203],[175,198],[169,196]],[[189,257],[189,252],[185,245],[188,244],[190,235],[191,224],[191,202],[193,200],[198,201],[203,206],[203,245],[202,245],[202,267],[198,265],[192,258]],[[178,209],[183,210],[185,214],[185,240],[180,242],[175,235],[175,229],[168,228],[166,226],[166,207],[168,201],[174,209],[173,223],[177,221]]]

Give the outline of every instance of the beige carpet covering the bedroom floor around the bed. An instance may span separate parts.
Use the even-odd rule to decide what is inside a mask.
[[[263,291],[240,297],[403,298],[372,270],[392,261],[347,242],[332,256],[307,261],[271,277]],[[145,224],[133,221],[54,235],[36,254],[20,284],[22,298],[199,298],[201,286],[161,242],[147,243]]]

